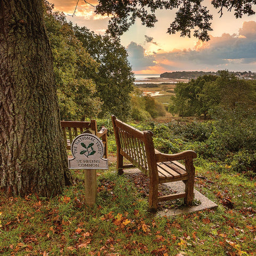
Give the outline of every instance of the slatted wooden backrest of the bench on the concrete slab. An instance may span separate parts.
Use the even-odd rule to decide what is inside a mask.
[[[150,175],[152,167],[156,166],[153,133],[139,131],[131,125],[123,123],[112,116],[117,150],[143,173]]]

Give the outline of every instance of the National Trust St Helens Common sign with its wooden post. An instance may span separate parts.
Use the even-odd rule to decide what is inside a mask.
[[[91,133],[78,135],[71,144],[72,159],[68,160],[69,169],[84,170],[85,201],[94,205],[97,198],[97,171],[108,169],[108,159],[102,158],[102,141]]]

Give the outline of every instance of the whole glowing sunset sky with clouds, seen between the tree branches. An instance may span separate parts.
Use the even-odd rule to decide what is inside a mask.
[[[96,15],[94,7],[79,0],[48,0],[55,11],[66,14],[68,21],[85,26],[97,34],[104,34],[109,17]],[[92,5],[97,1],[91,0]],[[210,41],[202,42],[191,36],[169,35],[167,28],[175,12],[159,10],[154,28],[135,24],[121,36],[128,59],[135,74],[162,74],[171,71],[229,71],[256,72],[256,14],[236,19],[233,13],[224,12],[220,18],[209,0],[205,0],[213,14]],[[254,8],[256,11],[256,6]]]

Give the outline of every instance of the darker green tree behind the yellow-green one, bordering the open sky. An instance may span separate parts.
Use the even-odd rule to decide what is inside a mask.
[[[99,117],[114,114],[127,119],[131,109],[134,76],[127,52],[120,40],[109,35],[97,35],[86,27],[74,27],[75,35],[91,57],[99,62],[93,73],[97,95],[102,101]]]

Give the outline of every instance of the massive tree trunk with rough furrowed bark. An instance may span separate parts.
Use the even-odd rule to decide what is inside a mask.
[[[0,0],[0,188],[53,196],[71,184],[42,0]]]

